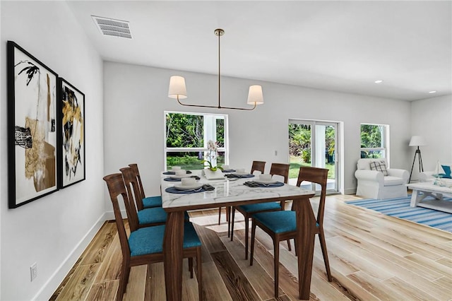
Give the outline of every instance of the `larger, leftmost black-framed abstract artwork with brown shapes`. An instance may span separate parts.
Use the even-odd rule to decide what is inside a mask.
[[[58,190],[58,75],[15,42],[7,42],[8,206]]]

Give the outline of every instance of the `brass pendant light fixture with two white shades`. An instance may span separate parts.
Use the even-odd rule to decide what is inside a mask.
[[[248,92],[248,105],[253,107],[223,107],[221,105],[221,57],[220,57],[220,37],[225,34],[225,30],[221,28],[215,29],[215,35],[218,37],[218,105],[189,105],[181,102],[182,99],[187,98],[185,78],[182,76],[171,76],[169,78],[168,97],[177,99],[180,105],[187,107],[213,107],[217,109],[231,109],[231,110],[246,110],[251,111],[256,108],[256,105],[263,104],[263,95],[261,85],[251,85]]]

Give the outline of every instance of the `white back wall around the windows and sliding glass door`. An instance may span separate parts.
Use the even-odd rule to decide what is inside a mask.
[[[163,112],[218,112],[218,109],[182,107],[176,100],[167,98],[169,76],[174,74],[186,78],[189,98],[185,102],[215,105],[218,101],[215,75],[114,62],[104,64],[105,173],[138,163],[148,195],[160,191],[159,171],[164,167]],[[223,77],[222,105],[245,107],[248,87],[254,83]],[[263,86],[264,105],[251,112],[220,111],[229,114],[231,165],[250,168],[252,160],[264,160],[269,170],[270,163],[287,163],[288,120],[320,119],[344,122],[345,193],[356,189],[354,172],[360,155],[362,122],[390,124],[391,165],[408,169],[410,102],[294,85],[259,84]],[[108,200],[107,206],[111,211]]]

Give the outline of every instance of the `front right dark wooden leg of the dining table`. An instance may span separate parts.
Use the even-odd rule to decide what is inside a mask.
[[[316,218],[312,211],[309,198],[301,196],[294,199],[293,205],[297,212],[297,244],[298,250],[298,289],[299,299],[309,300],[311,292],[312,264],[314,259],[314,239]]]

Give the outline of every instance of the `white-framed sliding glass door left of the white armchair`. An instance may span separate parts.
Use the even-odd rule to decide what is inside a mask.
[[[327,168],[328,192],[338,191],[338,124],[314,120],[289,121],[290,183],[297,184],[299,167]],[[319,191],[319,185],[302,183]]]

